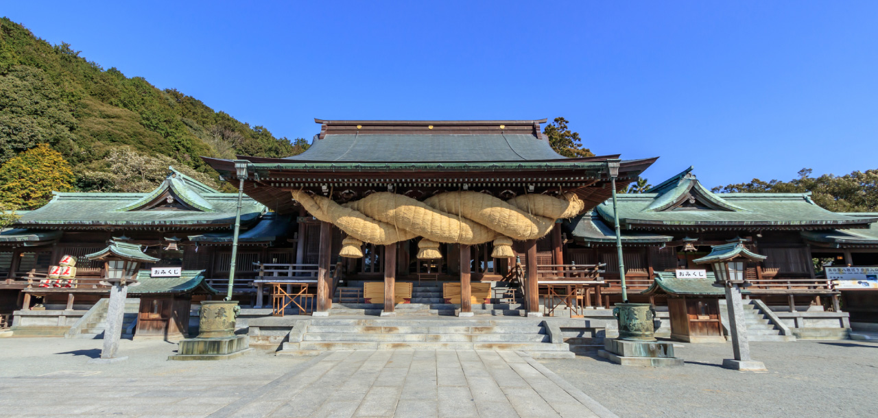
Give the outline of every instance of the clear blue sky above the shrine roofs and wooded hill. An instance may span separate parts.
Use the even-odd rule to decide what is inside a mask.
[[[878,2],[4,2],[103,67],[276,136],[562,116],[707,185],[878,168]],[[417,150],[413,150],[417,152]]]

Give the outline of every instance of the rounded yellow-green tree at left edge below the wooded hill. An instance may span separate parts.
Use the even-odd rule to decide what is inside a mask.
[[[36,209],[52,198],[53,191],[72,190],[73,179],[61,152],[40,144],[0,166],[0,203]]]

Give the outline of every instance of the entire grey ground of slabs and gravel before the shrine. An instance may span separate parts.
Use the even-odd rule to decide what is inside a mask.
[[[878,414],[871,396],[876,341],[752,344],[764,373],[719,367],[729,344],[678,344],[687,363],[667,369],[496,351],[336,351],[316,358],[256,351],[230,361],[175,362],[166,358],[176,344],[130,340],[120,347],[128,361],[88,365],[100,344],[0,339],[0,416]]]

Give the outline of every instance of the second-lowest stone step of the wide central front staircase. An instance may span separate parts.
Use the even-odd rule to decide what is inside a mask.
[[[303,341],[367,341],[375,343],[547,343],[549,336],[543,334],[354,334],[312,333]]]

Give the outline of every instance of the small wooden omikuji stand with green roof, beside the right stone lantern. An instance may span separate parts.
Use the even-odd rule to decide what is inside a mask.
[[[657,272],[642,294],[651,298],[666,295],[672,338],[687,343],[725,342],[719,308],[725,291],[716,285],[713,273],[704,278],[677,279],[673,272]]]

